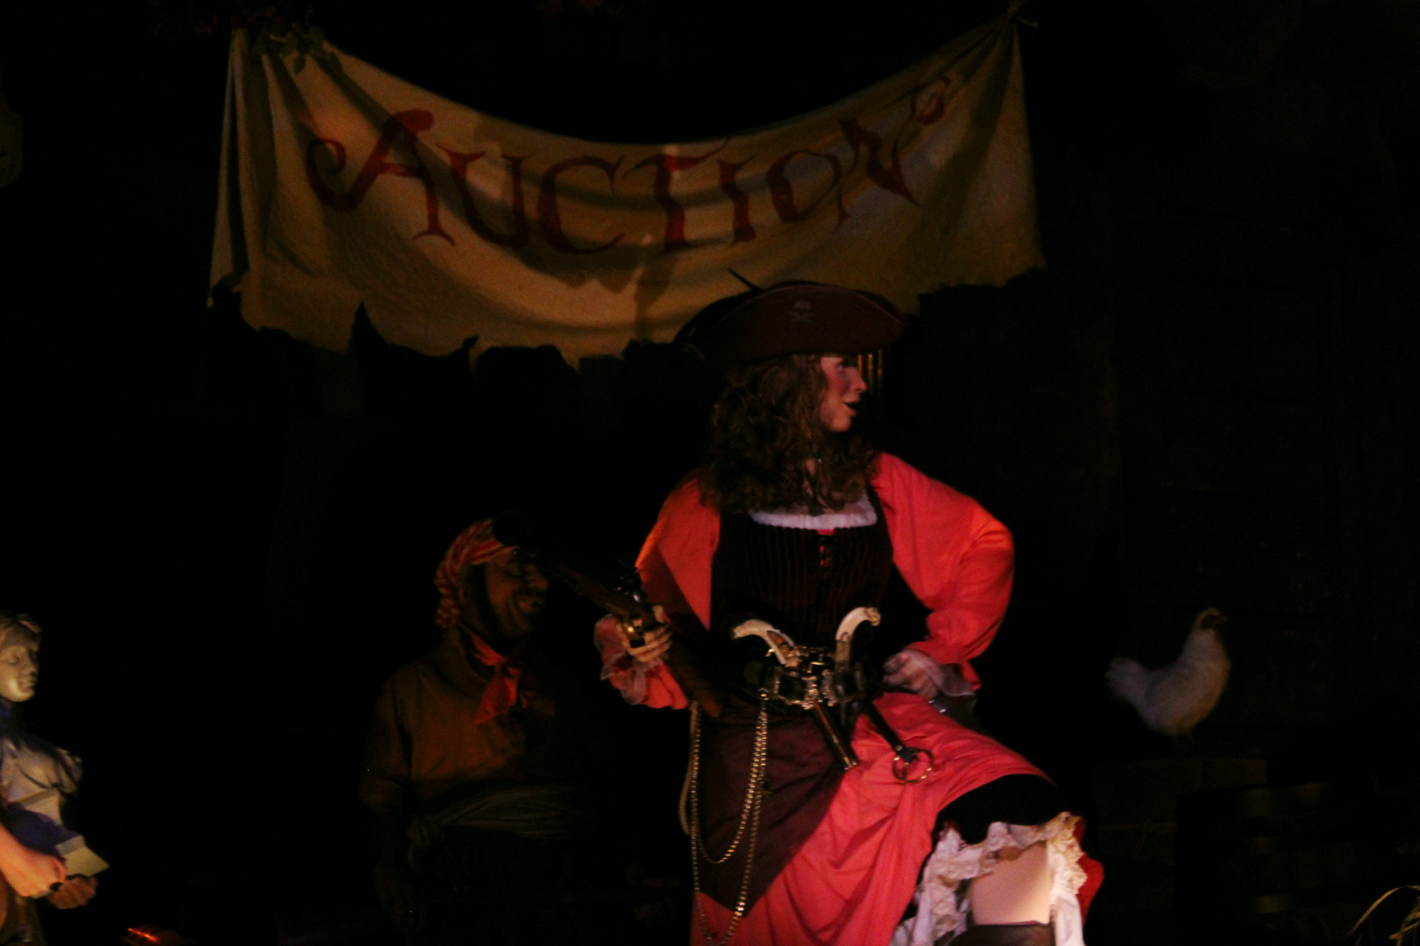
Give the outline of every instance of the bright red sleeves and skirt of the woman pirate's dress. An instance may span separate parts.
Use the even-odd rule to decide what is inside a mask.
[[[971,498],[888,454],[876,464],[872,488],[886,519],[893,564],[930,611],[924,640],[912,647],[940,664],[956,664],[977,682],[970,660],[990,644],[1010,599],[1010,532]],[[666,499],[638,560],[648,596],[677,627],[710,624],[710,574],[719,538],[720,513],[701,502],[699,477],[692,474]],[[604,640],[609,630],[602,628]],[[609,641],[604,654],[612,682],[633,702],[687,705],[663,667],[639,674],[629,658],[615,660]],[[788,854],[740,922],[734,942],[888,946],[933,852],[937,814],[1003,776],[1042,774],[914,694],[889,692],[875,703],[906,745],[932,752],[933,772],[919,783],[900,781],[893,774],[892,749],[859,718],[852,746],[861,764],[838,780],[816,827]],[[738,798],[744,786],[720,790]],[[1088,859],[1082,864],[1086,871],[1093,867]],[[1086,884],[1082,894],[1095,885],[1098,881]],[[723,936],[731,908],[704,894],[700,906],[710,932]],[[1074,922],[1078,925],[1078,918]],[[897,942],[917,942],[902,936]],[[692,942],[703,942],[699,929],[692,930]]]

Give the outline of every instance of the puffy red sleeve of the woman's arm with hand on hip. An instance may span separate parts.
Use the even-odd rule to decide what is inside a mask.
[[[1011,599],[1011,533],[971,496],[883,454],[873,488],[888,518],[893,564],[930,610],[927,637],[912,647],[939,664],[968,662],[995,637]]]

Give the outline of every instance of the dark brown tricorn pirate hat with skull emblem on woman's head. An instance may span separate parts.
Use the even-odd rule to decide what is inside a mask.
[[[696,347],[716,367],[734,367],[799,352],[876,352],[905,328],[907,316],[875,292],[791,281],[711,302],[676,342]]]

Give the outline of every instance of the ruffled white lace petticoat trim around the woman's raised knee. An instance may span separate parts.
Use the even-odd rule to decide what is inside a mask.
[[[912,902],[917,908],[893,930],[892,946],[946,946],[967,929],[971,912],[971,888],[961,882],[995,869],[1003,851],[1024,851],[1045,842],[1051,868],[1051,922],[1055,946],[1085,946],[1083,920],[1076,892],[1085,884],[1079,865],[1082,852],[1075,840],[1078,817],[1061,813],[1045,824],[1005,824],[995,821],[978,844],[966,844],[956,827],[937,841],[922,868],[922,879]]]

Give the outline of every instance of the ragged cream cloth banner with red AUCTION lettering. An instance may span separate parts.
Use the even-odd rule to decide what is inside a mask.
[[[427,355],[477,336],[575,360],[707,302],[821,279],[905,309],[1042,265],[1011,14],[792,121],[613,145],[483,115],[331,50],[231,44],[212,284],[344,350],[364,304]]]

